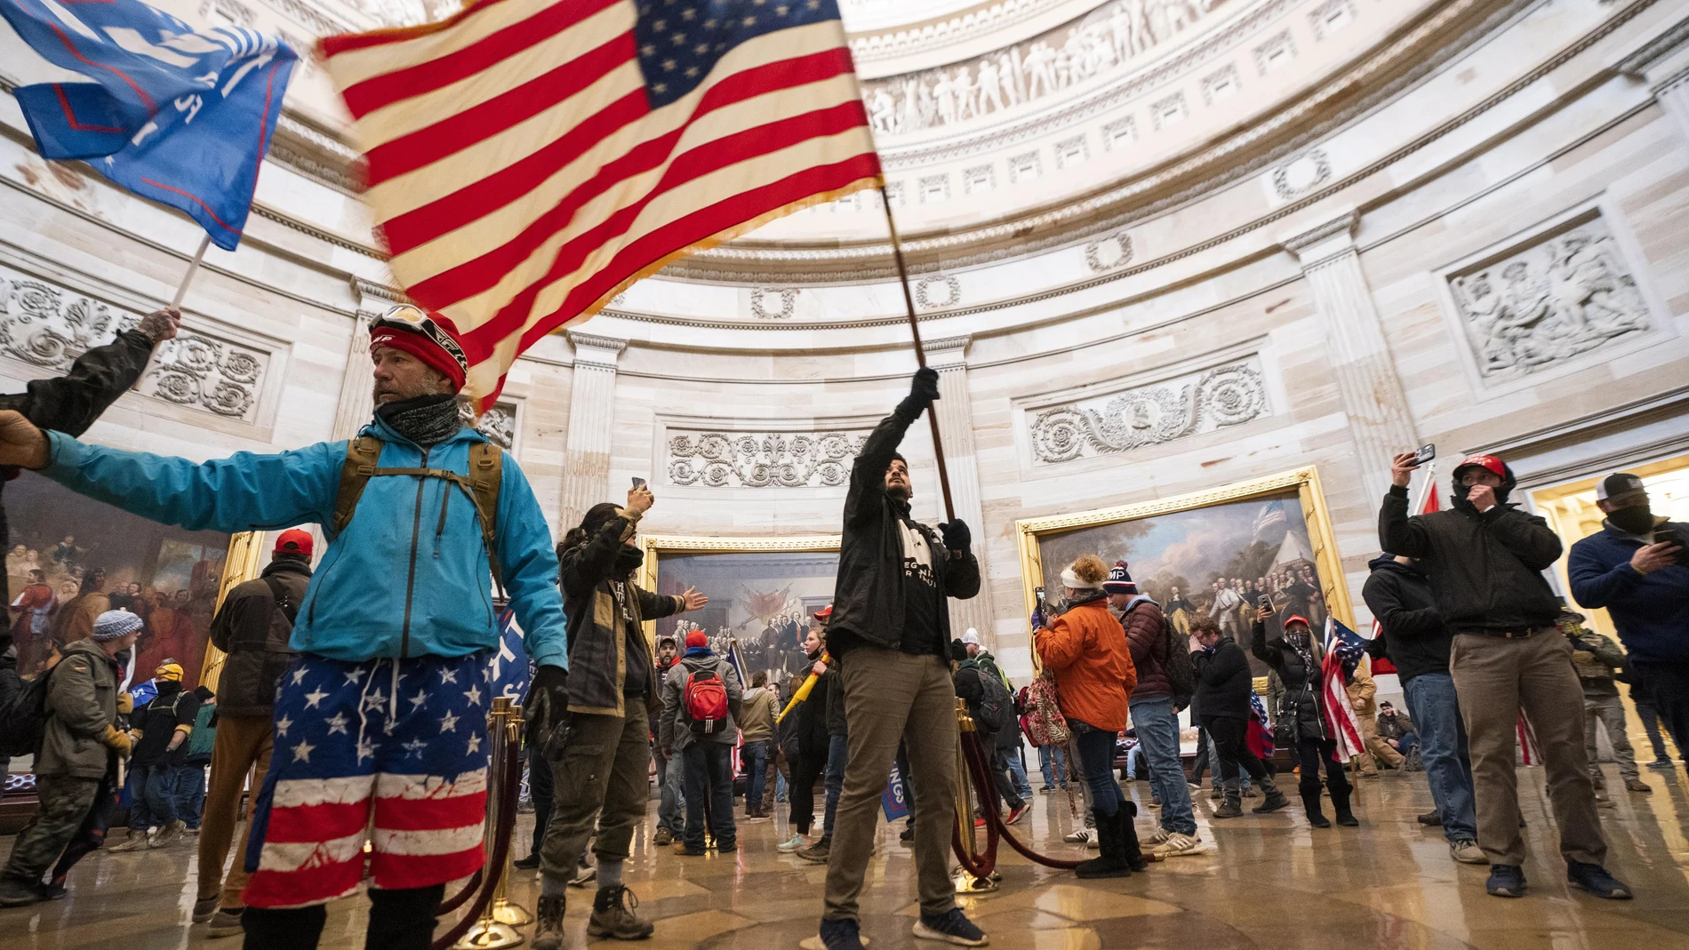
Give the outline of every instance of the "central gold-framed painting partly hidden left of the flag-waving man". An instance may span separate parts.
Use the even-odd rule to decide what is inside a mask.
[[[645,579],[657,594],[696,587],[709,606],[650,626],[684,648],[703,629],[718,653],[738,648],[745,673],[770,680],[801,672],[804,634],[816,611],[833,602],[838,538],[645,538]]]

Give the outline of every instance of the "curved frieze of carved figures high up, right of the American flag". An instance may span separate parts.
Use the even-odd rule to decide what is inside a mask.
[[[1226,0],[1115,0],[973,62],[870,79],[863,105],[877,132],[954,125],[1084,83],[1150,56]]]

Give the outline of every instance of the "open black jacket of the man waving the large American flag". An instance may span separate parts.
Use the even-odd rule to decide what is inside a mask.
[[[851,638],[897,650],[904,633],[904,538],[899,525],[909,503],[885,493],[885,469],[892,466],[904,432],[917,417],[892,413],[863,442],[851,466],[844,496],[844,532],[839,540],[839,574],[833,591],[829,648],[846,650]],[[980,562],[973,552],[941,557],[944,542],[921,525],[932,547],[932,575],[939,594],[966,601],[980,592]],[[934,653],[951,641],[949,611],[939,609],[939,638]],[[839,636],[839,634],[844,636]]]

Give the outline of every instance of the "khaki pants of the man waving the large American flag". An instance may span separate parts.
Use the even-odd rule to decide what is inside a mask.
[[[839,660],[850,761],[833,818],[828,896],[823,916],[858,920],[861,893],[880,823],[880,795],[892,778],[897,744],[907,742],[914,802],[915,874],[921,913],[942,915],[956,906],[949,877],[951,832],[956,825],[956,687],[949,665],[936,655],[858,645]]]

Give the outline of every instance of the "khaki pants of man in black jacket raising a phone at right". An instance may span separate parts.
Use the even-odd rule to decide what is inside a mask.
[[[1478,847],[1490,864],[1525,862],[1513,775],[1520,710],[1542,746],[1561,854],[1567,861],[1601,864],[1606,839],[1584,756],[1583,687],[1572,670],[1571,643],[1552,626],[1513,640],[1461,633],[1454,636],[1449,672],[1473,759]]]

